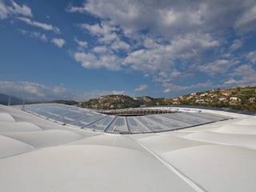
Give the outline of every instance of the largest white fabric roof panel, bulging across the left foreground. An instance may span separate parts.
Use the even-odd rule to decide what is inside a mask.
[[[2,159],[0,170],[5,191],[194,191],[150,154],[109,146],[50,147]]]

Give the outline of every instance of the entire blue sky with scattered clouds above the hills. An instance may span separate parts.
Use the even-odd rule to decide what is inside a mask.
[[[0,0],[0,93],[172,98],[256,84],[254,0]]]

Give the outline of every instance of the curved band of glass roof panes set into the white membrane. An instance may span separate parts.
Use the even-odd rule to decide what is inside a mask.
[[[15,106],[22,109],[22,106]],[[25,106],[31,114],[82,129],[110,134],[142,134],[168,130],[185,129],[191,126],[217,122],[227,119],[220,115],[196,112],[174,114],[149,114],[145,116],[115,116],[100,114],[96,110],[56,103],[30,104]]]

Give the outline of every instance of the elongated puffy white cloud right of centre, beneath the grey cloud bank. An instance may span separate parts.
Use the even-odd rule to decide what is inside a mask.
[[[145,38],[143,42],[146,48],[129,53],[124,64],[130,65],[134,70],[149,72],[171,71],[175,60],[197,58],[198,54],[219,46],[219,42],[209,34],[178,36],[167,45],[162,45],[158,43],[158,39],[153,38]]]

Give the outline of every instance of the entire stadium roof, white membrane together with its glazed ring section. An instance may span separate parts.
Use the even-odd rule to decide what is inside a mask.
[[[1,191],[256,191],[255,116],[26,110],[0,106]]]

